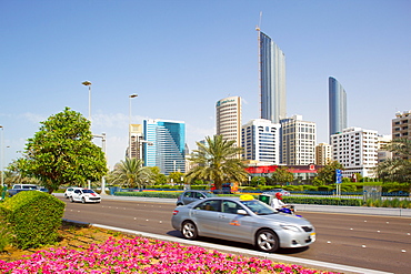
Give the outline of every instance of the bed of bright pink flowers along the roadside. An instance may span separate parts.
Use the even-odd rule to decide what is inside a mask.
[[[237,256],[178,243],[109,239],[88,248],[38,251],[24,260],[0,261],[0,273],[328,273],[269,260]]]

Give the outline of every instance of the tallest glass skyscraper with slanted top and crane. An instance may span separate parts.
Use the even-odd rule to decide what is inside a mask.
[[[279,123],[287,118],[285,55],[269,35],[259,32],[261,119]]]

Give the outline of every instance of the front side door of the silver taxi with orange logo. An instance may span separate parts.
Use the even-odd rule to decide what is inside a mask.
[[[234,201],[222,201],[219,233],[225,240],[249,243],[253,239],[255,221],[251,215],[238,214],[238,210],[244,210],[244,207]]]

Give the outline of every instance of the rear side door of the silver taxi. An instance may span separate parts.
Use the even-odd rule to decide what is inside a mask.
[[[218,237],[220,207],[221,200],[207,200],[191,210],[191,217],[200,235]]]

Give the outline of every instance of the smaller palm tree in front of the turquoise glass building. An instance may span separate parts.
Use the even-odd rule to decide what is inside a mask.
[[[149,166],[142,166],[142,161],[134,158],[126,158],[124,161],[120,161],[120,164],[116,166],[112,173],[114,177],[112,183],[119,183],[129,187],[139,187],[151,183],[152,172]]]

